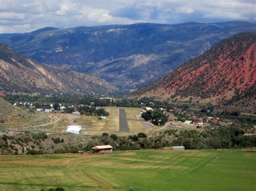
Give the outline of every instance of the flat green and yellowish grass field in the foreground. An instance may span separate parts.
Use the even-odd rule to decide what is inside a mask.
[[[256,152],[119,151],[0,156],[0,190],[255,190]]]

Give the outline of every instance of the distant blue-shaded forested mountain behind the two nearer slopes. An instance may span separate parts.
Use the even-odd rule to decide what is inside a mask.
[[[96,75],[113,86],[132,90],[160,79],[220,40],[239,32],[256,32],[256,24],[46,27],[29,33],[0,34],[0,42],[38,63],[62,66],[71,73],[76,70]]]

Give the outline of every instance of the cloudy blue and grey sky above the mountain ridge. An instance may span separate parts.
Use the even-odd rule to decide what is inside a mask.
[[[46,26],[256,22],[255,0],[0,0],[0,33]]]

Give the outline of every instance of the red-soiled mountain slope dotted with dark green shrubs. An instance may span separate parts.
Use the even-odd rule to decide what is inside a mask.
[[[132,95],[228,103],[255,112],[255,82],[256,33],[239,33]]]

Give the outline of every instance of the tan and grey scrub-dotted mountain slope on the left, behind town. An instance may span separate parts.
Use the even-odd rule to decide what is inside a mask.
[[[15,93],[52,93],[101,95],[118,88],[95,75],[67,70],[63,67],[39,65],[0,44],[0,91]]]

